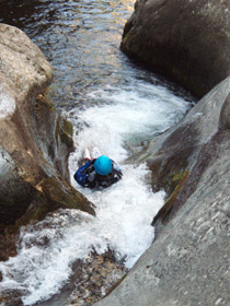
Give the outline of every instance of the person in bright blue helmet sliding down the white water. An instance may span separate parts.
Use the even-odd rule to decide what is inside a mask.
[[[82,187],[103,189],[117,183],[123,176],[117,164],[105,155],[88,160],[73,175]]]

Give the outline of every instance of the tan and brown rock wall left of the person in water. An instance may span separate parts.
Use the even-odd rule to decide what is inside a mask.
[[[44,94],[51,79],[38,47],[0,24],[0,234],[58,208],[94,214],[67,183],[72,130]]]

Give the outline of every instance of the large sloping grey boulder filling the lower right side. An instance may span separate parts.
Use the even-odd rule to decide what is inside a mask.
[[[157,239],[96,306],[229,305],[230,76],[139,157],[169,199]]]

